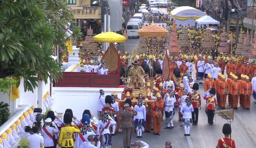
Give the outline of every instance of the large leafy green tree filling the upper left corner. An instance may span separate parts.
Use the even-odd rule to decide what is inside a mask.
[[[66,0],[0,0],[0,78],[21,76],[32,92],[40,79],[58,81],[61,64],[51,55],[57,43],[66,49],[63,29],[72,19]]]

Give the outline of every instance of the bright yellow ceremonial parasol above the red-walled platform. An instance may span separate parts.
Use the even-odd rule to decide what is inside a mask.
[[[122,43],[125,42],[126,38],[123,35],[117,34],[115,32],[104,32],[102,34],[97,34],[93,37],[95,42],[107,42],[107,43]]]

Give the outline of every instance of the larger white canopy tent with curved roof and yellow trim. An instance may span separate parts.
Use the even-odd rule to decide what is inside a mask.
[[[175,18],[177,25],[194,26],[195,20],[207,15],[201,10],[189,6],[182,6],[171,11],[171,16]]]

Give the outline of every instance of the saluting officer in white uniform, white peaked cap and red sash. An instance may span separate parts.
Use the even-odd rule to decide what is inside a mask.
[[[54,127],[50,127],[51,123]],[[42,136],[43,136],[45,148],[54,148],[54,140],[58,139],[58,137],[54,138],[55,136],[54,134],[59,133],[59,129],[56,126],[56,124],[52,122],[51,118],[47,118],[45,120],[45,125],[46,126],[42,128]]]

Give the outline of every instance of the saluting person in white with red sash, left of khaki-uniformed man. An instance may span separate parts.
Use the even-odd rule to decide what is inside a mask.
[[[103,118],[100,120],[97,127],[97,135],[100,136],[101,148],[111,148],[111,136],[109,127],[115,125],[116,121],[114,121],[111,116],[107,113],[107,111],[103,112]]]

